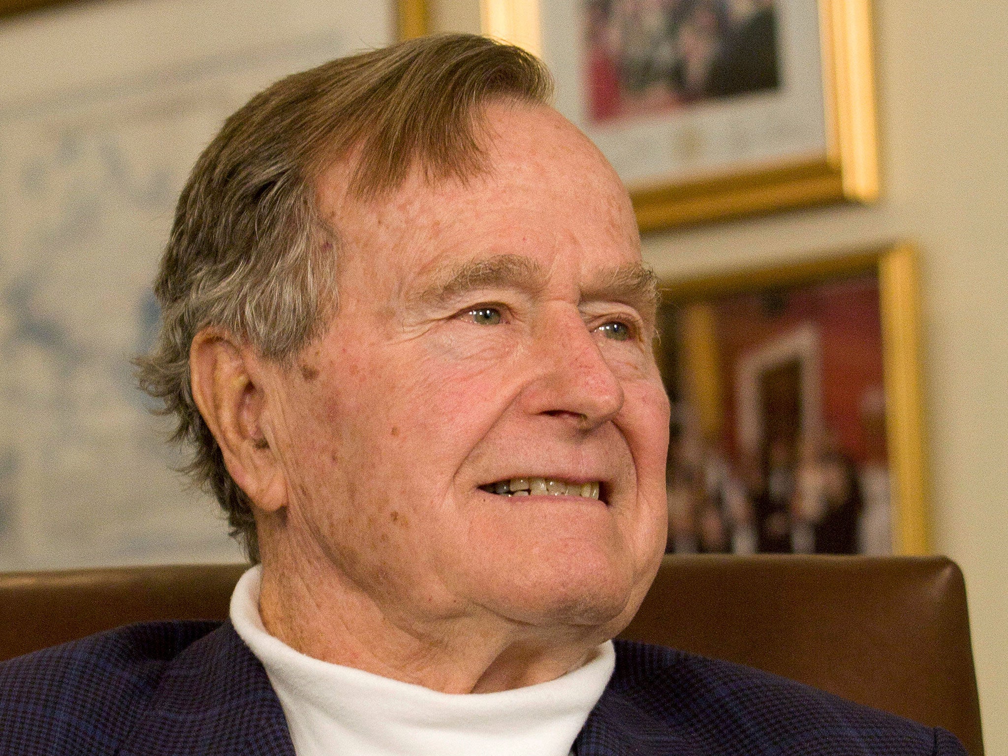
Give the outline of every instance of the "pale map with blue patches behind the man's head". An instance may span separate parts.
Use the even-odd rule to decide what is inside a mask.
[[[200,151],[271,82],[391,41],[382,10],[110,0],[0,24],[0,571],[240,558],[129,360]]]

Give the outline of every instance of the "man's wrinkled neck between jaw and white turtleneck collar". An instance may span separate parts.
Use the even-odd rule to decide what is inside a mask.
[[[546,682],[580,667],[606,639],[585,628],[544,631],[479,607],[409,616],[332,564],[305,568],[264,558],[259,612],[270,635],[306,656],[442,692]]]

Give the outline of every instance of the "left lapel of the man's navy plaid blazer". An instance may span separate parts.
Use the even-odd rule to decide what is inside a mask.
[[[120,756],[294,756],[266,671],[230,622],[165,668]]]

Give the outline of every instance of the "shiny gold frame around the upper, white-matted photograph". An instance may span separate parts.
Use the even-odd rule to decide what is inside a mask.
[[[642,231],[879,196],[870,0],[818,0],[825,149],[631,187]],[[481,0],[484,33],[542,52],[539,0]]]

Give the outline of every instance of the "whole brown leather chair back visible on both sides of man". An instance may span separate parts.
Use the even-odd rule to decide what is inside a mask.
[[[0,575],[0,659],[130,622],[223,619],[244,569]],[[983,754],[966,589],[943,557],[666,557],[623,637],[939,725]]]

